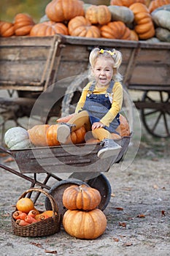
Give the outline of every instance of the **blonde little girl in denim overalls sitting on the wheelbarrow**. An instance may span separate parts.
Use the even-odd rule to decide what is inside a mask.
[[[118,50],[94,48],[89,56],[91,75],[94,80],[82,90],[82,95],[74,115],[68,123],[58,127],[58,140],[65,143],[70,132],[85,125],[94,138],[103,146],[98,157],[115,156],[120,146],[112,140],[111,133],[117,133],[120,125],[119,112],[123,103],[122,76],[118,69],[122,63],[122,54]]]

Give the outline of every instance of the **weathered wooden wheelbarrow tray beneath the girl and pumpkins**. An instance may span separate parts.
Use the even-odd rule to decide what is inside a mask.
[[[123,158],[130,136],[116,142],[122,146],[119,154],[106,159],[97,157],[98,150],[102,148],[100,143],[45,146],[7,152],[15,158],[20,173],[107,172],[111,165]]]

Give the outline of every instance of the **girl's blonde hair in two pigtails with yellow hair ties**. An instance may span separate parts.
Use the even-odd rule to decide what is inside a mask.
[[[112,63],[113,63],[112,79],[115,82],[119,82],[119,81],[123,80],[123,76],[120,75],[120,72],[119,72],[119,67],[122,64],[122,53],[120,53],[119,50],[115,50],[115,49],[112,49],[112,51],[111,51],[111,50],[103,50],[103,49],[99,49],[99,48],[94,48],[90,52],[90,56],[89,56],[89,62],[90,62],[91,68],[93,68],[95,66],[96,60],[101,57],[105,57],[107,59],[112,60]],[[90,75],[92,76],[92,72]]]

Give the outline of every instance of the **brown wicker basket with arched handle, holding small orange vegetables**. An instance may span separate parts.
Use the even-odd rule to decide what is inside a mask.
[[[38,236],[49,236],[53,235],[60,231],[61,228],[61,216],[58,214],[58,206],[54,200],[54,198],[45,192],[43,189],[39,188],[31,188],[26,190],[20,198],[25,197],[29,192],[41,192],[45,194],[52,205],[53,209],[53,217],[49,217],[47,219],[43,219],[39,222],[32,223],[28,226],[19,226],[15,219],[12,217],[12,230],[13,233],[17,236],[29,236],[29,237],[38,237]],[[20,199],[19,198],[19,199]],[[12,213],[13,214],[13,213]]]

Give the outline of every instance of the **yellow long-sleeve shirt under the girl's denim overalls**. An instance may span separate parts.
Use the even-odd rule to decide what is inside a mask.
[[[87,97],[89,88],[91,86],[91,82],[85,86],[85,88],[82,90],[82,95],[80,97],[79,102],[77,103],[77,108],[75,110],[75,113],[78,113],[80,110],[82,110],[83,106],[85,105],[85,99]],[[109,86],[98,89],[95,87],[93,94],[106,94],[107,88]],[[119,82],[116,82],[112,89],[112,107],[108,110],[107,114],[101,118],[101,123],[105,126],[109,127],[109,124],[112,122],[112,120],[117,116],[117,113],[120,112],[123,104],[123,87],[122,84]]]

